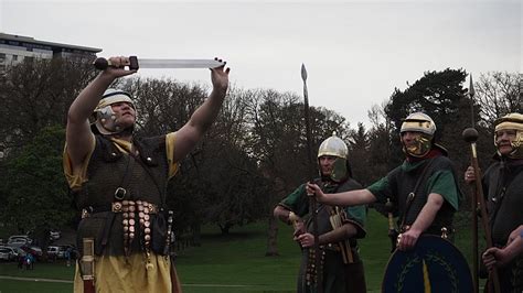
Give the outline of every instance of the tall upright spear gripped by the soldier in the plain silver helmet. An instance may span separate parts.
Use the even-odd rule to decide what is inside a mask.
[[[303,106],[305,106],[305,122],[307,135],[307,159],[308,170],[312,171],[312,141],[310,131],[309,117],[309,91],[307,90],[307,69],[305,64],[301,64],[301,79],[303,80]],[[310,182],[314,180],[314,175],[310,176]],[[316,289],[318,293],[323,293],[323,275],[320,269],[320,243],[318,235],[318,205],[314,196],[309,196],[309,213],[312,216],[312,235],[314,236],[314,270],[316,270]]]

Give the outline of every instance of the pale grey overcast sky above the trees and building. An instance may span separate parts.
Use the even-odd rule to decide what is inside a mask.
[[[103,48],[99,56],[223,57],[241,88],[301,95],[367,123],[424,72],[521,73],[521,1],[0,0],[0,32]],[[207,69],[151,70],[210,85]]]

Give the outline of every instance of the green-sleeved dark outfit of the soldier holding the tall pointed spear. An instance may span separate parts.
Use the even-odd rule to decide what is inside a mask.
[[[342,184],[333,182],[324,182],[322,191],[325,193],[341,193],[352,189],[361,189],[362,186],[354,180],[348,180]],[[292,210],[296,215],[305,218],[308,232],[312,234],[312,220],[309,215],[309,197],[306,194],[305,184],[300,185],[295,192],[289,194],[281,203],[280,206]],[[339,207],[342,213],[346,215],[345,223],[350,223],[356,227],[356,235],[352,239],[348,239],[351,246],[351,251],[354,257],[354,262],[345,264],[341,252],[339,251],[338,243],[329,243],[322,246],[321,253],[323,256],[322,261],[322,276],[323,276],[323,292],[344,293],[344,292],[365,292],[365,279],[363,273],[363,263],[357,253],[356,238],[365,237],[364,224],[366,217],[365,206],[353,206],[353,207]],[[330,223],[330,216],[334,207],[318,205],[318,231],[319,235],[331,231],[332,225]],[[313,248],[302,249],[302,259],[300,264],[300,272],[298,275],[298,290],[299,293],[316,292],[316,285],[313,279],[310,276],[311,264],[313,263]],[[309,276],[308,276],[309,272]],[[313,273],[313,272],[312,272]]]

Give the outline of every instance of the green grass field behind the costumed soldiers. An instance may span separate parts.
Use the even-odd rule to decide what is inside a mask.
[[[200,292],[295,292],[299,265],[299,248],[291,240],[291,230],[279,226],[278,257],[265,257],[266,223],[235,228],[224,237],[217,228],[207,227],[202,246],[179,252],[178,273],[185,293]],[[367,237],[360,241],[361,256],[370,292],[378,292],[389,257],[386,219],[370,210]],[[456,243],[470,259],[470,229],[457,235]],[[34,271],[17,269],[15,263],[0,263],[0,275],[71,281],[74,269],[64,263],[36,263]],[[0,293],[72,292],[72,283],[0,279]]]

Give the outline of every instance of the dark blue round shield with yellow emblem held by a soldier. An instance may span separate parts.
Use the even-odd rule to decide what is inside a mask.
[[[382,292],[473,292],[472,274],[452,243],[424,235],[413,250],[391,256]]]

